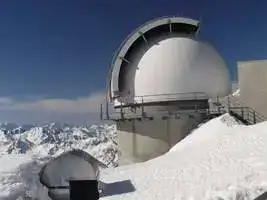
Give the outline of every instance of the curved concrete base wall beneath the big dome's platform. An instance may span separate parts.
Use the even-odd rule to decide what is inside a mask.
[[[147,161],[164,154],[204,118],[203,114],[190,113],[180,119],[117,122],[120,164]]]

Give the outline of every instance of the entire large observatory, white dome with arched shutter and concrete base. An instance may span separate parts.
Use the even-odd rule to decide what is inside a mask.
[[[207,117],[201,110],[209,98],[231,92],[224,60],[197,39],[198,31],[197,20],[155,19],[116,52],[107,81],[113,113],[107,115],[117,124],[121,163],[167,152]]]

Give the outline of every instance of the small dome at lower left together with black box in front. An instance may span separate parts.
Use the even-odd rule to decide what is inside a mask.
[[[39,178],[53,200],[98,200],[99,167],[106,165],[75,149],[44,165]]]

